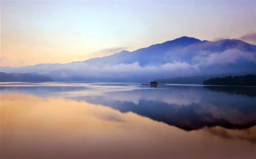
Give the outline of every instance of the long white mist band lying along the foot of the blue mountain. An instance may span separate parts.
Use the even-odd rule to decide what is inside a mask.
[[[72,69],[67,69],[72,68]],[[146,65],[140,66],[136,61],[131,64],[118,65],[87,65],[86,63],[73,63],[65,66],[65,69],[60,69],[46,74],[54,78],[59,77],[79,77],[84,80],[97,81],[127,81],[127,82],[148,82],[159,78],[168,78],[170,76],[182,76],[184,74],[191,75],[200,71],[196,65],[191,65],[186,62],[173,61],[172,63],[162,64],[160,66]],[[58,75],[58,76],[57,76]],[[68,79],[67,79],[68,80]]]

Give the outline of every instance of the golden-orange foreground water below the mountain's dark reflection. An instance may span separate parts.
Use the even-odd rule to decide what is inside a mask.
[[[1,94],[1,159],[255,158],[255,131],[186,132],[86,102]]]

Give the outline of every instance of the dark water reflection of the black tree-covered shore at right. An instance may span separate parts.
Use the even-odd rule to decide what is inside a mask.
[[[256,96],[256,87],[204,86],[204,88],[215,92],[225,92],[227,94],[246,95],[251,97]]]

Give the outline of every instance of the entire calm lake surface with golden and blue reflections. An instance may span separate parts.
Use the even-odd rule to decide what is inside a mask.
[[[1,159],[256,158],[256,87],[1,83]]]

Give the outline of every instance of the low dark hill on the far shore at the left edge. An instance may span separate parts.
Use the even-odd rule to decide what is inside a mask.
[[[54,81],[51,77],[38,75],[35,72],[31,73],[5,73],[0,72],[1,82],[46,82]]]

